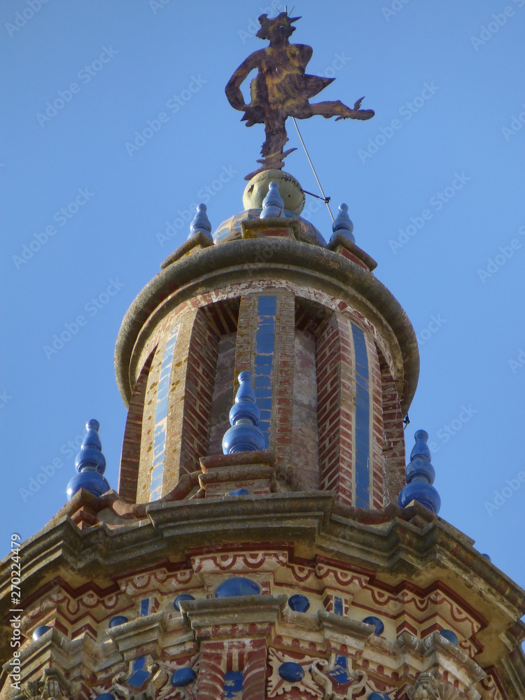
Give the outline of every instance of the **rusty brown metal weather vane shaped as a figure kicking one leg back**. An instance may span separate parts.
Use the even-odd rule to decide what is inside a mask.
[[[292,24],[297,20],[300,17],[289,17],[287,10],[274,18],[269,18],[266,14],[260,15],[260,29],[255,36],[268,39],[269,46],[249,55],[226,85],[228,102],[235,109],[244,112],[242,121],[246,121],[246,126],[265,125],[266,140],[260,151],[262,158],[257,161],[262,165],[247,175],[246,180],[263,170],[280,170],[284,166],[284,158],[296,150],[283,150],[288,141],[285,128],[287,117],[307,119],[314,114],[321,114],[325,118],[335,116],[337,121],[364,120],[374,116],[373,109],[360,109],[363,97],[357,100],[353,108],[339,100],[314,104],[309,102],[310,97],[321,92],[335,78],[321,78],[304,73],[313,50],[305,44],[288,42],[295,31]],[[250,84],[251,102],[246,104],[241,85],[253,70],[257,70],[257,75]]]

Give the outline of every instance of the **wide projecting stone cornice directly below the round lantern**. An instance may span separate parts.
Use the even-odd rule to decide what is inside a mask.
[[[203,542],[221,546],[260,540],[314,547],[321,556],[373,569],[392,585],[409,578],[423,587],[431,577],[465,599],[475,589],[481,614],[483,605],[490,605],[509,622],[525,611],[525,591],[477,553],[472,540],[424,507],[390,505],[363,518],[363,511],[352,507],[335,514],[333,503],[332,494],[317,491],[244,498],[233,512],[231,501],[222,499],[155,503],[146,506],[147,519],[86,530],[64,517],[23,544],[22,593],[29,599],[66,572],[73,586],[94,581],[107,587],[126,570],[184,560],[188,549]],[[3,561],[0,579],[0,647],[8,643],[10,632],[8,562]]]

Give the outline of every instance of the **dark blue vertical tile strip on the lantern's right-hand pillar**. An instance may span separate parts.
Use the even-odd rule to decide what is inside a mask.
[[[365,334],[354,323],[353,351],[356,367],[356,506],[370,507],[370,393]]]

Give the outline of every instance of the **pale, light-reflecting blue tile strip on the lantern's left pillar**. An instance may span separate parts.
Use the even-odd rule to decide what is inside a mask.
[[[162,497],[162,477],[164,475],[164,456],[166,449],[166,428],[168,422],[169,384],[172,380],[172,363],[175,344],[179,336],[181,323],[176,323],[169,336],[162,355],[160,374],[157,385],[157,402],[155,405],[155,435],[153,437],[153,468],[151,470],[150,503]]]

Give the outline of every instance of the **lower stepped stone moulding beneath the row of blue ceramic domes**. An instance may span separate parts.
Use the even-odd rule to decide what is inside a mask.
[[[153,666],[154,659],[195,654],[195,643],[202,644],[207,640],[220,645],[244,637],[268,641],[274,639],[279,644],[280,651],[274,650],[273,656],[282,662],[289,651],[282,634],[286,624],[293,626],[295,623],[295,617],[289,615],[286,601],[286,595],[185,601],[181,603],[181,616],[173,617],[159,612],[141,617],[108,630],[108,639],[100,643],[90,636],[71,642],[59,631],[52,630],[43,640],[27,647],[22,652],[21,660],[28,672],[32,666],[38,666],[42,662],[62,666],[70,678],[63,687],[69,687],[70,684],[78,687],[82,682],[87,682],[87,678],[120,678],[125,675],[130,661],[137,657],[137,649],[146,660],[149,659],[147,665]],[[339,615],[318,612],[311,622],[314,626],[316,624],[314,628],[304,626],[303,629],[292,631],[295,635],[298,633],[299,638],[310,640],[305,651],[312,651],[311,640],[318,638],[316,647],[321,656],[311,657],[310,662],[305,657],[306,668],[313,668],[311,662],[316,658],[320,661],[316,668],[321,670],[321,667],[326,666],[323,658],[330,657],[333,661],[335,654],[343,654],[350,661],[350,669],[353,661],[358,662],[354,675],[364,678],[366,673],[363,673],[363,668],[372,675],[377,673],[367,659],[378,652],[381,654],[382,650],[381,666],[398,669],[399,677],[407,673],[407,668],[412,669],[408,672],[409,678],[415,680],[418,672],[435,673],[437,668],[446,667],[447,672],[455,678],[461,675],[463,687],[486,678],[486,673],[474,661],[455,650],[447,640],[440,639],[439,635],[421,641],[404,633],[398,640],[389,643],[374,636],[373,626]],[[312,633],[316,629],[321,631],[321,635],[313,637]],[[276,636],[278,632],[280,635]],[[447,650],[449,657],[440,659],[436,666],[433,656],[439,647]],[[295,650],[299,651],[299,648],[295,645]],[[63,678],[56,668],[53,673]],[[418,687],[417,682],[414,687]],[[315,689],[314,686],[312,688]]]

